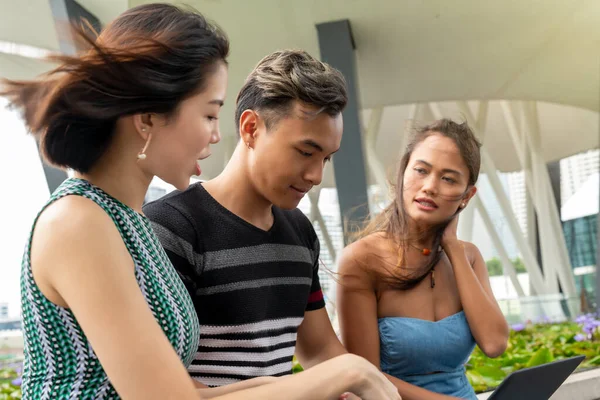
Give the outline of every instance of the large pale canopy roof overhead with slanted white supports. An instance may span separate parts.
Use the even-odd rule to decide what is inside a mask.
[[[52,1],[5,1],[0,42],[57,50]],[[106,23],[129,7],[150,1],[78,2]],[[470,121],[484,143],[482,172],[495,176],[497,171],[524,169],[531,205],[544,217],[540,218],[543,259],[555,260],[552,264],[557,267],[545,268],[542,276],[534,251],[492,176],[512,232],[520,237],[534,291],[556,292],[558,278],[563,290],[574,294],[560,218],[555,207],[548,206],[553,203],[548,201],[551,189],[545,165],[598,147],[600,1],[185,3],[216,21],[231,39],[230,85],[221,117],[223,141],[204,162],[207,177],[221,171],[236,144],[234,101],[254,65],[283,48],[302,48],[318,56],[315,25],[348,19],[356,44],[358,103],[370,183],[385,185],[413,122],[427,123],[441,116]],[[0,54],[1,76],[30,77],[47,67],[37,60]],[[329,168],[322,187],[334,186]],[[485,214],[483,204],[478,209]],[[469,236],[472,216],[467,214],[464,220],[462,229]],[[501,238],[496,241],[502,247]],[[514,274],[507,257],[502,258]],[[518,284],[516,278],[513,282]]]

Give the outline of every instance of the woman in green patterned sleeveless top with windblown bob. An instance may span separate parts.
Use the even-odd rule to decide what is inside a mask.
[[[45,159],[75,171],[23,258],[24,399],[398,399],[346,355],[294,377],[197,390],[192,301],[142,214],[158,176],[185,189],[220,139],[229,42],[200,14],[133,8],[35,81],[4,81]]]

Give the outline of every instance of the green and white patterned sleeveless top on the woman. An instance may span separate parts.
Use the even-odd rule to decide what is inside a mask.
[[[68,195],[84,196],[110,215],[131,254],[148,307],[187,368],[198,346],[198,318],[150,221],[102,189],[75,178],[63,182],[45,207]],[[31,272],[32,234],[33,228],[21,271],[23,399],[118,399],[73,313],[50,302],[37,287]]]

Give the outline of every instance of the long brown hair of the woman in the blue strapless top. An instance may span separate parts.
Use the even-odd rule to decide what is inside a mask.
[[[435,267],[441,257],[441,252],[432,251],[423,265],[416,266],[415,268],[408,268],[405,265],[403,254],[406,254],[410,243],[424,237],[433,236],[432,249],[438,249],[444,229],[449,223],[448,221],[437,226],[432,226],[428,231],[419,232],[418,236],[411,237],[409,225],[412,221],[404,208],[402,196],[402,192],[404,191],[404,173],[410,161],[410,157],[421,142],[434,134],[448,137],[456,143],[469,170],[468,186],[464,193],[477,183],[481,166],[481,144],[473,134],[471,128],[469,128],[466,122],[458,124],[449,119],[435,121],[430,125],[416,130],[411,135],[405,152],[400,159],[396,183],[395,185],[392,185],[394,193],[392,202],[381,213],[375,216],[367,224],[365,229],[355,236],[355,238],[361,238],[374,233],[381,233],[397,246],[398,257],[396,265],[387,268],[388,273],[384,276],[379,276],[378,278],[383,279],[383,282],[390,287],[400,290],[410,289],[421,282],[429,274],[431,269]],[[403,267],[403,271],[400,273],[396,272],[398,271],[398,267]]]

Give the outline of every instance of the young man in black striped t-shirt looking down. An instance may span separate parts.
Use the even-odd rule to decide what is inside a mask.
[[[346,353],[324,308],[319,241],[296,207],[339,147],[346,85],[303,51],[265,57],[236,101],[240,141],[216,178],[144,208],[190,292],[200,346],[189,369],[222,386]]]

